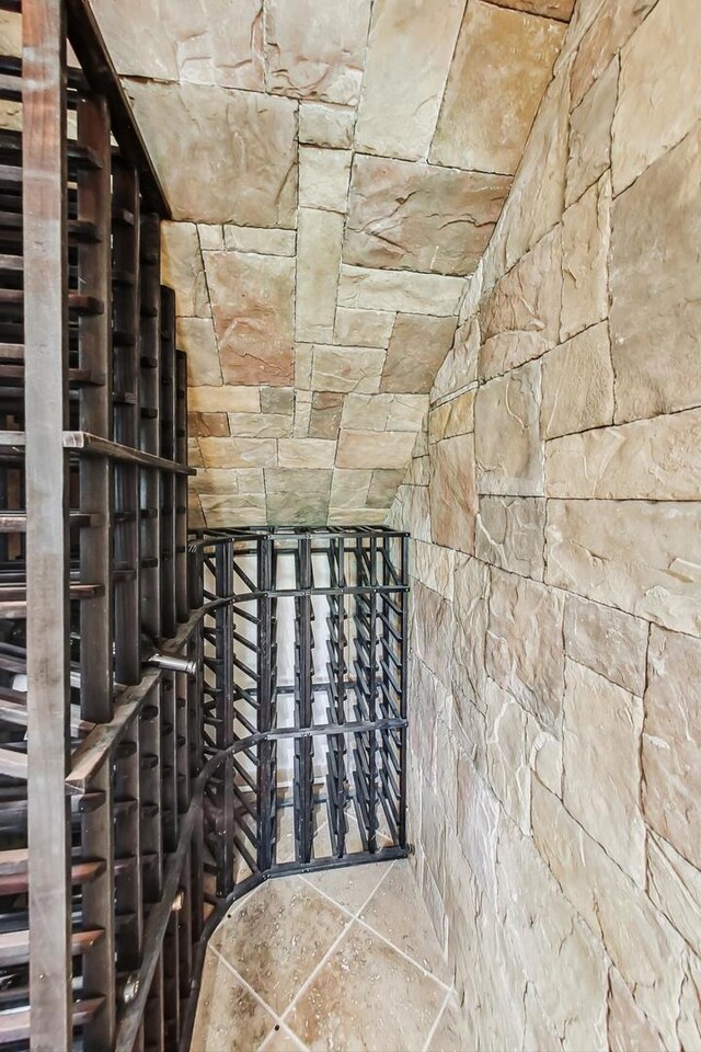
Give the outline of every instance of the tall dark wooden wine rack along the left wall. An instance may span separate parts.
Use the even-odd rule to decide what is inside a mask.
[[[220,758],[169,208],[87,0],[0,10],[0,1045],[174,1049]]]

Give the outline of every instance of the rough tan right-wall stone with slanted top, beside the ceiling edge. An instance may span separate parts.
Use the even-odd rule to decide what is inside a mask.
[[[559,341],[562,237],[542,238],[485,297],[480,309],[480,378],[538,358]]]

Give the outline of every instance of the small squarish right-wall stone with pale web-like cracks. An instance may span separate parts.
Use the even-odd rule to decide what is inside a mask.
[[[476,517],[478,559],[542,581],[545,567],[545,502],[532,496],[481,496]]]

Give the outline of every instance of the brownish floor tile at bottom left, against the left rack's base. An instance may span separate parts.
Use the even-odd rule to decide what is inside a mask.
[[[191,1052],[252,1052],[260,1048],[275,1017],[252,997],[225,962],[209,951]]]

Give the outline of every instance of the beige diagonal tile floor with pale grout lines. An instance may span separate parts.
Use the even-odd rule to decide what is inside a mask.
[[[271,880],[215,931],[191,1052],[464,1052],[405,860]]]

